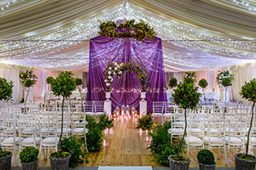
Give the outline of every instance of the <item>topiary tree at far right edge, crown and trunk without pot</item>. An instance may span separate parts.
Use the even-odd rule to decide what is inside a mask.
[[[248,154],[248,145],[249,145],[249,139],[250,139],[250,133],[251,129],[253,126],[253,116],[254,116],[254,105],[256,103],[256,79],[254,78],[250,82],[245,82],[245,84],[241,87],[241,97],[244,99],[247,99],[251,102],[253,102],[252,106],[252,116],[251,116],[251,122],[250,122],[250,127],[247,133],[247,150],[246,150],[246,155]]]

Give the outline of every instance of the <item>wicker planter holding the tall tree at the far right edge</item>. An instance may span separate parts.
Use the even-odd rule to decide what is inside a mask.
[[[240,159],[239,156],[240,154],[236,154],[236,170],[254,170],[255,169],[255,163],[256,163],[256,157],[254,157],[253,161],[245,161]],[[251,156],[251,155],[250,155]]]

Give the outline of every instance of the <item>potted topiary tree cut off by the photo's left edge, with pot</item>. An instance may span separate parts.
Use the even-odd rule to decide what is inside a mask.
[[[12,100],[14,82],[0,77],[0,102]],[[3,151],[0,144],[0,169],[11,169],[12,153]]]

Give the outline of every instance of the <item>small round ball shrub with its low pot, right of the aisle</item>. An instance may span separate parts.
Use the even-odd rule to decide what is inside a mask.
[[[200,150],[197,154],[200,170],[215,170],[216,162],[211,150]]]

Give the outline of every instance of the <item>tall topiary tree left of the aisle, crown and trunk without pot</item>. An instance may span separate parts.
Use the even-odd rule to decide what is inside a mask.
[[[58,75],[58,77],[53,78],[50,82],[50,88],[53,94],[55,96],[62,96],[62,105],[61,105],[61,135],[59,139],[58,144],[58,150],[61,149],[61,138],[63,133],[63,112],[64,112],[64,102],[65,99],[69,98],[73,92],[73,90],[76,89],[76,82],[75,78],[72,77],[72,73],[70,71],[61,71],[61,73]]]

